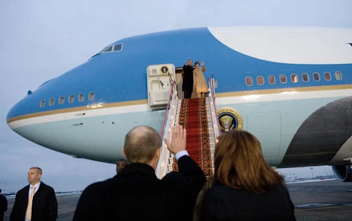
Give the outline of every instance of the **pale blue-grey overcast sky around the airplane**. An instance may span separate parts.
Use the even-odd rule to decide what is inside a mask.
[[[285,25],[352,28],[349,0],[0,1],[0,189],[28,185],[32,166],[55,191],[83,190],[115,175],[115,165],[77,159],[22,138],[10,108],[41,83],[85,63],[125,37],[209,26]],[[330,167],[281,169],[287,176],[331,175]],[[294,175],[292,175],[294,174]]]

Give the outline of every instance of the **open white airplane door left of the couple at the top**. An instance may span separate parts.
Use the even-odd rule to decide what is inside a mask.
[[[163,109],[168,105],[171,82],[175,79],[173,64],[149,65],[146,67],[146,82],[148,87],[148,106],[150,109]]]

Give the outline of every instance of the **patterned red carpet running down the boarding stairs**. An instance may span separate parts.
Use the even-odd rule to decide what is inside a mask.
[[[212,176],[206,98],[182,99],[179,125],[187,130],[187,151],[203,169],[207,178]],[[173,170],[178,170],[174,159]]]

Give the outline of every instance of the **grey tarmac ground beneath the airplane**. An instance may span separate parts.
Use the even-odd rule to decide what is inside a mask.
[[[352,182],[321,180],[317,182],[287,183],[296,219],[300,220],[352,220]],[[57,221],[69,221],[80,194],[56,196],[58,200]],[[8,199],[8,211],[4,220],[8,221],[14,198]]]

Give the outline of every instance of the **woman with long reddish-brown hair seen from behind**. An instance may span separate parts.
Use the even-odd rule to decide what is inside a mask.
[[[218,140],[214,177],[199,193],[194,220],[296,220],[283,177],[265,161],[259,140],[237,129]]]

